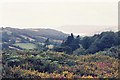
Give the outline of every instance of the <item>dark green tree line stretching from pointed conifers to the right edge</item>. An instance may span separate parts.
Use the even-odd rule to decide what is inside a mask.
[[[61,46],[56,47],[55,50],[72,54],[79,49],[81,52],[93,54],[118,45],[120,45],[120,31],[107,31],[85,37],[80,37],[79,35],[75,37],[71,33],[66,40],[63,40]]]

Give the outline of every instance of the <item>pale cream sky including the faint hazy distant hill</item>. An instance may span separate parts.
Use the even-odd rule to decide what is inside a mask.
[[[118,29],[118,0],[1,0],[0,26],[90,35]]]

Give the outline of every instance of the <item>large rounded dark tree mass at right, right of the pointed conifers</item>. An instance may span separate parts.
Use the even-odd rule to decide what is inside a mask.
[[[103,51],[106,48],[118,45],[118,35],[114,32],[102,32],[100,35],[92,37],[92,44],[87,49],[88,53]],[[94,40],[93,40],[94,39]]]

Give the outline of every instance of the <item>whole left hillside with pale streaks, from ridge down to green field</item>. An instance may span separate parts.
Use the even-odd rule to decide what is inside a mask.
[[[35,46],[35,43],[44,43],[48,38],[51,44],[59,45],[62,40],[66,39],[68,36],[68,34],[53,29],[18,29],[10,27],[2,28],[1,34],[3,48],[14,49],[18,49],[23,43]],[[18,43],[20,45],[16,45]],[[19,49],[21,48],[22,47]]]

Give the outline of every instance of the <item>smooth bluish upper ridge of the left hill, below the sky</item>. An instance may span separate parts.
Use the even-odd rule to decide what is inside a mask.
[[[12,32],[13,34],[16,35],[28,35],[31,37],[45,37],[45,38],[50,38],[50,39],[56,39],[56,40],[62,40],[66,38],[68,35],[57,30],[53,29],[18,29],[18,28],[10,28],[6,27],[3,29],[3,31],[8,31]]]

